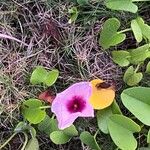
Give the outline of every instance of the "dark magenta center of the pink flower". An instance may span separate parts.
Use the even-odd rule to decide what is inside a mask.
[[[69,100],[67,109],[70,113],[82,112],[85,108],[86,102],[82,97],[74,96]]]

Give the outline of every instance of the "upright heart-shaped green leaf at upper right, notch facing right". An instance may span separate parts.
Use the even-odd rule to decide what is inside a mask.
[[[99,44],[104,49],[108,49],[109,47],[115,46],[125,40],[126,35],[117,32],[119,27],[120,22],[116,18],[110,18],[105,21],[99,40]]]

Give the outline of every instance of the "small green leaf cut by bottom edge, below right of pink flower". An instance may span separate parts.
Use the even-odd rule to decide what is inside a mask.
[[[101,150],[99,145],[97,144],[94,136],[92,136],[89,132],[84,131],[80,134],[80,140],[82,143],[88,145],[91,149]]]

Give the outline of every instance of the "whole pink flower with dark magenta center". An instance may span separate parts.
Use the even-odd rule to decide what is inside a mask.
[[[94,109],[89,103],[91,88],[89,82],[80,82],[56,95],[51,109],[60,129],[71,126],[78,117],[94,117]]]

